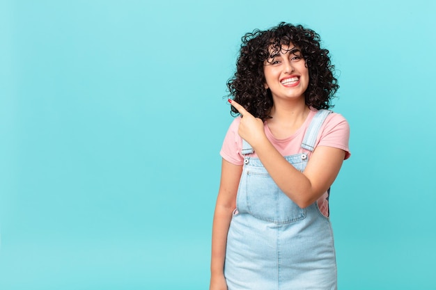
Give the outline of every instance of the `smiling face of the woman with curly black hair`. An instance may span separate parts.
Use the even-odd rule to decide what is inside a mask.
[[[272,98],[303,98],[309,86],[309,70],[301,52],[292,43],[270,54],[263,65],[265,88],[270,88]]]

